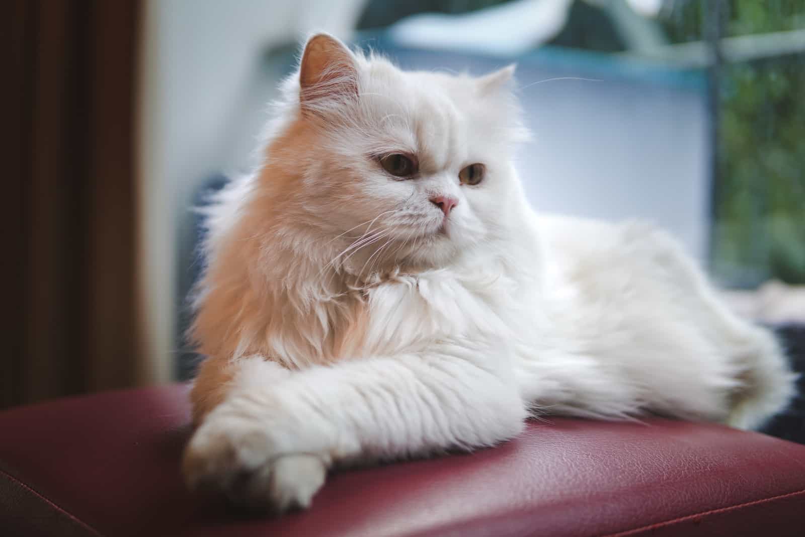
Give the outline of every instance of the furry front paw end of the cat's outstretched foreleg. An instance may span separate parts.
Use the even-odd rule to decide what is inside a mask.
[[[225,412],[226,408],[220,411],[208,416],[185,449],[188,486],[221,491],[251,510],[309,507],[324,484],[328,455],[302,453],[303,442],[293,441],[291,432],[278,424]],[[294,444],[299,446],[291,448]]]

